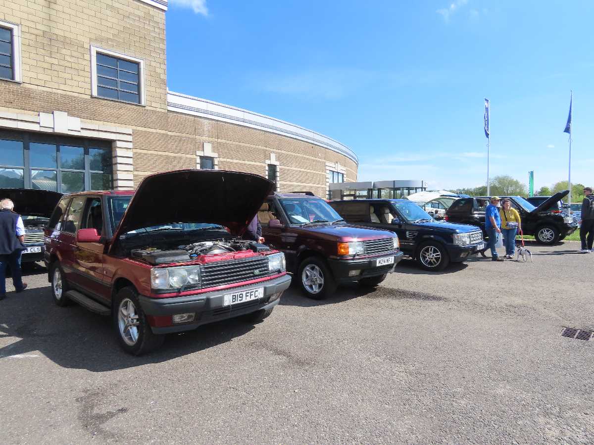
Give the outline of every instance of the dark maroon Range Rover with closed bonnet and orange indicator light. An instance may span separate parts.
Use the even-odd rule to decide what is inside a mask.
[[[347,224],[311,194],[270,195],[258,219],[266,244],[285,253],[287,270],[314,299],[342,283],[377,286],[402,258],[394,233]]]

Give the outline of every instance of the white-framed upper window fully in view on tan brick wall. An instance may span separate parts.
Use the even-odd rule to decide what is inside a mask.
[[[91,46],[93,96],[144,105],[144,61]]]

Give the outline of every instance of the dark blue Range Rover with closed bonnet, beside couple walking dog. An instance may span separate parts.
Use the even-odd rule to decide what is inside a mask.
[[[408,200],[332,201],[330,205],[347,222],[396,232],[400,250],[425,270],[443,270],[485,247],[476,227],[434,220]]]

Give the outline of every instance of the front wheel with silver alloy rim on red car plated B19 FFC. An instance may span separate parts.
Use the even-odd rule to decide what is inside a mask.
[[[113,329],[119,345],[132,355],[143,355],[163,344],[164,335],[154,334],[140,307],[134,288],[121,289],[113,301]]]

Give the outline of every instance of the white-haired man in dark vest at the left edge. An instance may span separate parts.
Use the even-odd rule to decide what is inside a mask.
[[[21,254],[25,241],[25,226],[20,215],[13,212],[10,199],[0,201],[0,300],[6,298],[6,268],[10,267],[12,284],[17,292],[23,292],[27,283],[21,278]]]

